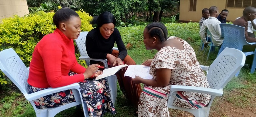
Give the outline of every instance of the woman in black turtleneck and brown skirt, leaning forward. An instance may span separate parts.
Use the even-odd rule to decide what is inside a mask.
[[[107,59],[109,67],[116,65],[136,65],[134,60],[127,55],[119,31],[115,28],[116,19],[110,12],[103,12],[97,19],[97,27],[92,29],[86,36],[86,51],[90,58]],[[112,50],[116,43],[119,51]],[[123,63],[124,62],[124,63]],[[96,63],[91,61],[92,64]],[[119,86],[126,98],[138,106],[141,93],[140,84],[134,84],[131,77],[124,77],[125,69],[116,73]]]

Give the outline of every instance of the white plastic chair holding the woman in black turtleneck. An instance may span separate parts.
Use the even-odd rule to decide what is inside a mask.
[[[85,40],[86,40],[87,34],[88,34],[88,32],[81,32],[80,36],[75,40],[76,45],[77,45],[78,50],[79,50],[79,53],[81,55],[79,57],[79,59],[80,60],[85,60],[87,65],[91,65],[90,60],[99,61],[99,62],[102,62],[104,64],[105,68],[108,68],[108,63],[107,63],[106,59],[96,59],[96,58],[90,58],[88,56],[87,51],[86,51],[86,47],[85,47]],[[113,48],[113,49],[118,50],[117,48]],[[110,96],[111,96],[112,102],[115,103],[116,102],[116,96],[117,96],[117,88],[116,88],[117,87],[117,84],[116,84],[117,78],[116,78],[116,75],[112,75],[112,76],[107,77],[107,81],[108,81],[108,84],[109,84],[109,89],[111,90],[110,91]]]

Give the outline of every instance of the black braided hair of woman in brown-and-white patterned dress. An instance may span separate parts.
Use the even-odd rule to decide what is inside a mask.
[[[158,36],[160,42],[164,42],[167,40],[168,31],[167,28],[161,22],[152,22],[147,24],[145,27],[150,35],[150,37]]]

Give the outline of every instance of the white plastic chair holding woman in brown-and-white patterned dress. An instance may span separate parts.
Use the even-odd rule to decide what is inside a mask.
[[[245,55],[242,51],[233,48],[225,48],[223,52],[210,65],[207,80],[211,88],[171,85],[170,95],[167,106],[172,109],[184,110],[192,113],[195,117],[208,117],[211,104],[216,96],[222,96],[223,88],[231,80],[232,77],[239,71],[245,62]],[[208,67],[203,67],[207,70]],[[211,100],[207,106],[199,109],[186,109],[173,106],[173,100],[176,97],[177,91],[198,92],[211,95]]]

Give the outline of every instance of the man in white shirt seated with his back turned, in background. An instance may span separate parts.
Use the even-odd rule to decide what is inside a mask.
[[[199,31],[200,37],[204,42],[204,46],[207,47],[208,42],[205,38],[205,32],[207,29],[212,34],[211,39],[213,44],[216,46],[221,46],[221,44],[223,43],[223,38],[221,38],[221,29],[220,29],[221,22],[216,18],[219,15],[219,10],[216,6],[211,6],[209,8],[209,12],[210,12],[210,17],[203,22],[202,27]]]

